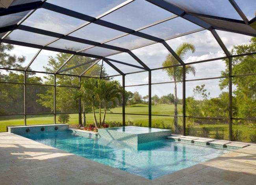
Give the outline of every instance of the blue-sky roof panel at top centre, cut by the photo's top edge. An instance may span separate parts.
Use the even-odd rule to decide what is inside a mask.
[[[106,15],[102,20],[128,27],[138,29],[153,22],[172,16],[169,11],[161,9],[145,0],[135,0],[128,5]]]

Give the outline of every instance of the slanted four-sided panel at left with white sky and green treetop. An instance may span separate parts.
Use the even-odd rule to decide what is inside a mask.
[[[69,56],[70,54],[67,53],[42,50],[30,65],[30,70],[55,72],[56,69],[58,69],[59,66],[69,58]]]

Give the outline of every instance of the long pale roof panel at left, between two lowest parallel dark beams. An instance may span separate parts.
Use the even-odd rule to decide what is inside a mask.
[[[56,38],[28,32],[28,31],[23,31],[20,29],[15,29],[8,35],[8,39],[17,40],[20,42],[27,42],[31,44],[38,44],[43,46]]]

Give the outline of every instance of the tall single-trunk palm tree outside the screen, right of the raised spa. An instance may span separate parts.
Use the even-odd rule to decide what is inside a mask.
[[[195,46],[193,44],[189,44],[184,42],[180,44],[176,49],[176,54],[180,57],[180,59],[184,60],[184,57],[188,51],[195,53]],[[173,57],[171,53],[166,56],[165,61],[162,63],[163,67],[174,66],[180,64],[178,60]],[[183,67],[182,66],[175,66],[173,68],[165,68],[163,69],[167,72],[167,75],[171,80],[174,81],[174,132],[178,133],[178,98],[177,98],[177,83],[182,81],[183,79]],[[195,67],[191,65],[186,66],[186,74],[193,73],[195,75]]]

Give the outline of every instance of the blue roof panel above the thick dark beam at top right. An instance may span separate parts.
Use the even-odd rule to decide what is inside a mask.
[[[181,9],[205,15],[213,15],[219,17],[233,18],[241,20],[234,7],[228,0],[165,0]]]

